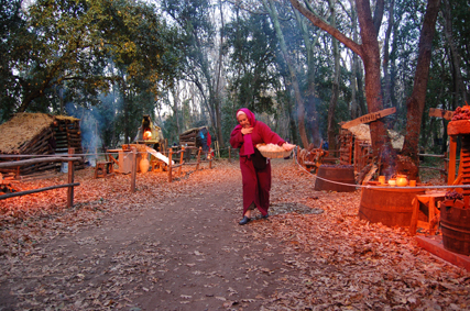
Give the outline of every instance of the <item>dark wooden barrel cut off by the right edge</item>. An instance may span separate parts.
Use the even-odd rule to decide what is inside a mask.
[[[461,200],[446,200],[440,204],[440,226],[444,248],[470,255],[470,209]]]

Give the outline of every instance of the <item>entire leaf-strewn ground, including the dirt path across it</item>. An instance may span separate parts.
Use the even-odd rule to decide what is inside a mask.
[[[470,310],[470,274],[360,221],[360,191],[273,160],[271,216],[240,226],[238,164],[203,167],[0,201],[0,310]]]

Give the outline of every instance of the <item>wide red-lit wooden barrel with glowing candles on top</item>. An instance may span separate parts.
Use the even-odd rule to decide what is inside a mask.
[[[359,219],[387,226],[409,226],[413,199],[425,189],[362,188]]]

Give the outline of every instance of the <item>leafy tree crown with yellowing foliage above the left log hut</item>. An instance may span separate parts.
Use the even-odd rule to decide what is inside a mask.
[[[99,91],[109,91],[119,79],[105,71],[110,57],[132,64],[129,75],[145,75],[155,86],[164,78],[170,81],[177,68],[172,49],[177,36],[143,2],[39,0],[26,14],[13,47],[18,56],[10,59],[17,64],[14,81],[21,89],[19,112],[56,86],[96,101]]]

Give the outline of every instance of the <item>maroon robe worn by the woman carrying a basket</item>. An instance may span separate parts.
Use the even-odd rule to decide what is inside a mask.
[[[250,111],[251,112],[251,111]],[[250,124],[253,126],[251,138],[253,146],[256,144],[276,144],[282,145],[285,143],[276,133],[261,121],[254,120],[252,115],[254,126],[250,120]],[[242,155],[243,147],[243,134],[241,133],[241,126],[237,125],[230,134],[230,145],[233,148],[240,148],[240,169],[243,182],[243,215],[250,208],[251,203],[254,202],[255,207],[260,210],[261,214],[266,215],[267,209],[270,208],[270,190],[271,190],[271,162],[267,159],[267,165],[264,169],[256,169],[253,166],[251,156]]]

